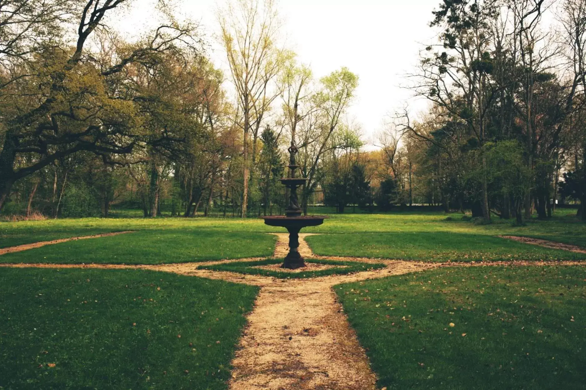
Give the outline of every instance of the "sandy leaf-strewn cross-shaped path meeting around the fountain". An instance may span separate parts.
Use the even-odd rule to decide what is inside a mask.
[[[274,257],[288,251],[288,235],[277,233]],[[304,257],[315,257],[305,237],[299,234],[299,251]],[[89,237],[77,237],[89,238]],[[61,241],[58,241],[61,242]],[[53,244],[32,244],[30,247]],[[29,248],[19,248],[25,250]],[[6,252],[12,250],[6,250]],[[1,254],[1,253],[0,253]],[[336,260],[336,257],[327,257]],[[258,259],[223,260],[243,261]],[[366,354],[354,330],[349,326],[333,287],[340,283],[362,281],[391,275],[407,274],[437,267],[486,265],[584,265],[575,261],[563,263],[537,261],[494,261],[490,263],[424,263],[418,261],[339,258],[339,260],[384,263],[381,270],[349,275],[329,275],[309,279],[278,279],[236,272],[198,270],[199,265],[220,263],[180,263],[161,265],[121,264],[0,264],[0,267],[47,268],[138,268],[175,272],[203,278],[257,285],[260,292],[254,309],[248,315],[236,356],[229,386],[232,390],[374,390],[376,375],[370,370]]]

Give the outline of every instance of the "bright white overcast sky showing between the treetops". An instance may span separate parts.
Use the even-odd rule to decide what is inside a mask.
[[[217,1],[176,2],[183,15],[200,20],[212,42],[217,31]],[[125,26],[127,29],[148,18],[144,3],[134,3],[130,15],[134,23]],[[342,66],[359,76],[349,119],[360,123],[364,138],[370,139],[384,118],[403,108],[411,96],[400,87],[406,84],[403,75],[414,70],[425,44],[437,42],[428,23],[439,4],[440,0],[280,0],[278,6],[288,46],[300,62],[311,65],[316,79]],[[216,44],[210,57],[227,70],[225,54]],[[411,101],[409,106],[417,112],[427,103]]]

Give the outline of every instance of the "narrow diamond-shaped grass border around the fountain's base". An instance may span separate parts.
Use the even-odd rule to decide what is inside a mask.
[[[366,264],[359,263],[357,261],[335,261],[335,260],[315,260],[305,259],[306,263],[314,264],[331,264],[331,265],[345,265],[346,267],[334,267],[327,270],[321,271],[308,271],[308,272],[280,272],[263,270],[260,268],[254,268],[257,265],[268,265],[268,264],[280,264],[283,262],[282,258],[269,258],[267,260],[258,261],[237,261],[233,263],[224,264],[212,264],[212,265],[200,265],[197,268],[202,270],[214,270],[214,271],[231,271],[239,272],[240,274],[248,275],[263,275],[271,276],[275,278],[287,279],[287,278],[316,278],[326,275],[343,275],[350,274],[352,272],[360,272],[367,270],[380,270],[384,268],[384,264]]]

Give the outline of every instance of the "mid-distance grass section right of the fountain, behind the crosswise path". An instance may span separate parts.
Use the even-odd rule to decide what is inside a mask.
[[[485,234],[393,232],[306,237],[321,256],[364,256],[426,261],[584,260],[586,254],[548,249]]]

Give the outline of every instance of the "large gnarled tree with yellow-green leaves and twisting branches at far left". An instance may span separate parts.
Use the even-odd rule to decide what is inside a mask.
[[[129,64],[148,66],[154,54],[178,50],[179,42],[190,46],[195,27],[165,24],[136,44],[116,44],[112,38],[110,43],[116,49],[110,56],[90,55],[86,47],[88,39],[96,30],[107,32],[105,15],[112,13],[123,2],[74,2],[76,8],[71,9],[71,14],[76,23],[71,26],[75,26],[77,39],[73,47],[64,40],[52,40],[52,45],[46,50],[35,50],[36,46],[30,46],[29,40],[29,49],[11,53],[14,65],[8,74],[2,74],[2,79],[8,81],[0,84],[0,105],[5,113],[0,128],[3,141],[0,151],[0,209],[15,181],[59,158],[81,150],[107,158],[113,153],[129,153],[134,147],[135,129],[140,123],[134,101],[132,96],[121,94],[111,87],[117,85],[118,75]],[[21,3],[41,8],[43,4],[52,4],[44,0]],[[27,8],[18,9],[19,12],[26,12]],[[60,12],[55,15],[60,15]],[[21,17],[26,18],[26,15]],[[49,29],[56,20],[48,17],[45,24],[39,21],[39,25],[27,33]],[[9,36],[13,32],[11,29],[18,28],[4,25],[2,31]],[[195,49],[195,44],[192,47]],[[22,161],[28,163],[21,165]]]

